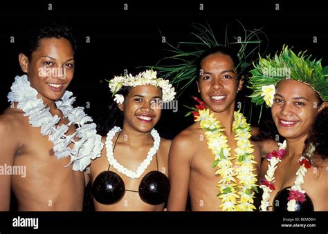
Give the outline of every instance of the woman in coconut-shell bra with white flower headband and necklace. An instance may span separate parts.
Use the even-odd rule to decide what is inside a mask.
[[[109,88],[115,98],[103,128],[105,147],[90,166],[95,211],[163,211],[171,141],[154,126],[174,88],[153,70],[114,77]]]

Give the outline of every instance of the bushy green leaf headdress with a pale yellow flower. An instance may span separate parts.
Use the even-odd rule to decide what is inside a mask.
[[[307,84],[323,101],[328,101],[328,66],[322,68],[321,59],[311,59],[311,55],[306,55],[306,51],[296,55],[288,46],[283,46],[282,51],[274,57],[260,57],[257,64],[253,65],[248,88],[253,90],[249,97],[257,105],[265,102],[266,106],[272,106],[275,86],[282,79],[293,79]]]

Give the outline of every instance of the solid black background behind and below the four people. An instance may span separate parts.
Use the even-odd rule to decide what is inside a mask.
[[[53,4],[53,10],[48,10],[49,3]],[[123,10],[124,3],[128,4],[128,10]],[[199,10],[200,3],[203,3],[204,10]],[[280,10],[275,10],[277,3]],[[280,50],[283,44],[288,44],[295,50],[308,50],[314,57],[322,57],[322,64],[327,65],[328,11],[324,3],[317,1],[304,3],[290,1],[288,3],[283,1],[244,1],[242,3],[237,1],[115,1],[113,3],[112,1],[86,0],[85,3],[9,1],[6,5],[4,4],[0,5],[0,111],[8,106],[6,96],[14,77],[22,75],[18,64],[18,53],[24,46],[26,33],[35,23],[44,20],[64,21],[71,25],[75,34],[78,35],[75,75],[69,90],[78,97],[75,105],[85,106],[86,102],[90,103],[91,108],[87,109],[86,113],[93,119],[103,115],[111,101],[111,94],[104,79],[120,75],[124,69],[135,73],[135,71],[140,71],[136,69],[138,66],[154,66],[159,59],[170,55],[165,51],[167,46],[161,43],[159,31],[167,41],[176,45],[179,41],[191,38],[190,23],[193,22],[208,21],[220,38],[224,35],[226,24],[233,25],[235,19],[238,19],[248,29],[262,28],[264,30],[268,37],[267,52],[273,54]],[[237,29],[236,32],[234,31],[234,28],[231,28],[231,32],[236,36],[239,34]],[[15,43],[10,43],[10,37],[15,37]],[[86,37],[91,38],[91,43],[86,43]],[[317,37],[317,43],[313,43],[313,37]],[[192,124],[192,118],[183,117],[188,110],[182,105],[192,105],[190,96],[197,94],[194,88],[194,86],[190,87],[179,99],[178,113],[172,113],[169,110],[163,112],[162,119],[156,128],[165,137],[172,139],[183,128]],[[118,220],[126,220],[134,225],[170,225],[172,222],[171,224],[174,225],[210,226],[212,224],[217,225],[218,228],[222,225],[278,228],[283,223],[282,217],[284,217],[284,215],[273,214],[249,217],[222,213],[206,213],[206,215],[175,213],[155,216],[120,213],[118,216],[111,214],[110,217],[105,215],[98,215],[99,217],[82,215],[82,217],[74,213],[64,216],[55,213],[53,216],[50,215],[51,217],[44,213],[30,215],[42,217],[46,226],[57,227],[61,225],[53,225],[55,219],[59,219],[58,222],[64,223],[65,226],[71,226],[71,224],[77,226],[82,222],[84,225],[111,226],[117,225]],[[300,217],[300,215],[293,216]],[[6,222],[0,226],[11,226],[12,217],[17,217],[17,213],[10,215],[0,213],[0,217],[2,222]],[[69,220],[70,217],[72,220]],[[181,217],[180,221],[179,217]],[[316,217],[318,221],[313,223],[325,226],[320,223],[327,220],[327,213],[316,214]],[[90,219],[93,223],[88,223]],[[110,219],[115,222],[109,222]],[[216,220],[217,224],[215,224]],[[238,223],[237,220],[244,221]],[[70,223],[71,221],[73,223]],[[39,223],[39,226],[42,224]],[[304,231],[313,230],[306,228]],[[327,229],[324,233],[327,233]]]

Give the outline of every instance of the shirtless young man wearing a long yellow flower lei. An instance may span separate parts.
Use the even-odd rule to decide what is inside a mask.
[[[172,190],[168,211],[185,211],[188,192],[192,211],[253,211],[261,155],[250,142],[250,126],[235,111],[242,89],[239,59],[226,47],[199,57],[198,91],[203,99],[196,123],[172,142],[169,168]]]

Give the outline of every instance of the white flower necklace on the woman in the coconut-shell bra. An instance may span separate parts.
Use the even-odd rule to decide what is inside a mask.
[[[159,134],[154,128],[150,131],[150,135],[152,135],[154,139],[154,146],[150,148],[150,150],[147,153],[147,157],[138,166],[136,172],[134,172],[132,170],[127,169],[125,166],[122,166],[114,158],[113,137],[120,130],[121,130],[120,127],[115,126],[107,133],[107,139],[106,139],[107,159],[109,161],[109,164],[111,164],[111,166],[113,166],[116,170],[118,170],[118,172],[126,175],[127,177],[130,177],[131,179],[138,179],[141,175],[143,175],[149,164],[152,162],[153,156],[156,154],[159,145],[161,144],[161,137],[159,136]]]

